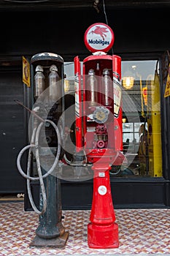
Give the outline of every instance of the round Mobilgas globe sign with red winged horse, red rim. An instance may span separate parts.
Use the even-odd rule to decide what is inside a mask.
[[[114,39],[112,29],[104,23],[94,23],[85,31],[85,46],[92,53],[100,50],[106,53],[112,48]]]

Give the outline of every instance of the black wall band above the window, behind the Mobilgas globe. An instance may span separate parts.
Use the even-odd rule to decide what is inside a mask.
[[[170,9],[170,8],[169,8]],[[163,52],[169,48],[169,9],[107,10],[115,32],[115,53]],[[15,18],[12,18],[14,16]],[[11,20],[11,22],[7,22]],[[1,55],[30,55],[55,52],[69,56],[89,54],[83,37],[93,23],[106,23],[104,11],[61,10],[1,12]]]

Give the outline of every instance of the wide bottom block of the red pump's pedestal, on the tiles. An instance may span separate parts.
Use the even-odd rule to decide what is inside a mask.
[[[90,248],[117,248],[118,240],[118,225],[96,225],[88,224],[88,246]]]

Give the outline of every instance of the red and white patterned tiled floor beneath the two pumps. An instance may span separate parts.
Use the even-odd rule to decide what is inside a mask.
[[[4,255],[170,255],[170,209],[115,209],[120,246],[90,249],[90,211],[63,211],[69,238],[65,249],[30,247],[39,217],[23,202],[0,203],[0,256]]]

